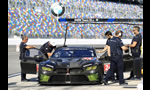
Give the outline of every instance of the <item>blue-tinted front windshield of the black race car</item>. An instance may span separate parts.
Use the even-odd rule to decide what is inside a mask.
[[[78,58],[78,57],[94,57],[93,50],[57,50],[52,58]]]

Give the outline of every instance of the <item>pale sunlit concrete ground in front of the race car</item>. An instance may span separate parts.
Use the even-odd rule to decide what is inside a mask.
[[[129,76],[124,73],[125,77]],[[8,90],[138,90],[137,85],[142,80],[127,80],[128,85],[120,86],[119,83],[112,83],[110,85],[39,85],[37,82],[37,75],[28,74],[28,82],[21,82],[20,76],[8,78]]]

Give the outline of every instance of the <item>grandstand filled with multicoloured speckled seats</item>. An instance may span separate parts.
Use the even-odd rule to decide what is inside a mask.
[[[28,35],[29,38],[64,38],[66,23],[60,23],[50,12],[55,2],[65,5],[61,18],[129,18],[143,19],[143,8],[137,4],[107,0],[8,0],[8,38]],[[134,22],[137,23],[137,22]],[[143,22],[138,22],[143,35]],[[107,30],[123,30],[123,38],[132,38],[133,25],[69,25],[68,38],[102,39]]]

